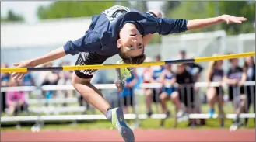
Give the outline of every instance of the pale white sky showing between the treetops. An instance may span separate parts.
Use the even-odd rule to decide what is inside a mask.
[[[149,9],[160,9],[160,5],[163,2],[159,1],[149,1]],[[9,9],[22,15],[27,23],[37,22],[37,8],[40,5],[49,5],[51,1],[11,1],[11,2],[1,2],[1,16],[6,16]]]

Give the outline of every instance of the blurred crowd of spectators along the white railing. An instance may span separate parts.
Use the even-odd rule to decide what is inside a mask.
[[[186,51],[180,50],[178,56],[180,59],[186,59]],[[160,55],[156,55],[154,59],[147,57],[146,62],[149,61],[161,61]],[[151,116],[153,113],[163,113],[167,117],[170,116],[170,108],[167,107],[167,101],[170,100],[172,106],[177,109],[178,121],[188,120],[188,113],[202,113],[200,104],[206,103],[209,105],[208,113],[212,117],[215,113],[214,104],[218,104],[218,112],[220,115],[225,115],[223,105],[226,102],[232,102],[233,113],[237,114],[237,117],[233,119],[233,123],[244,124],[240,121],[240,113],[249,113],[250,106],[252,106],[255,113],[255,87],[254,85],[244,85],[245,81],[255,81],[255,62],[254,57],[244,58],[244,65],[238,64],[238,59],[232,59],[229,61],[229,68],[227,71],[223,70],[223,61],[209,62],[207,68],[202,68],[200,64],[188,63],[188,64],[173,64],[165,66],[152,66],[147,68],[140,68],[142,74],[139,74],[136,68],[132,70],[132,77],[128,78],[124,88],[124,92],[108,92],[107,97],[114,106],[123,107],[124,113],[135,113],[136,89],[140,88],[140,84],[160,83],[163,86],[159,88],[142,87],[142,93],[145,98],[146,114]],[[61,61],[58,66],[70,65],[68,61]],[[43,64],[43,67],[52,67],[52,63]],[[1,64],[1,68],[9,68],[9,64]],[[205,74],[202,74],[202,71]],[[195,83],[200,81],[202,75],[205,75],[205,81],[209,84],[206,90],[200,91],[202,88],[195,86]],[[43,85],[71,85],[72,71],[45,71],[39,74],[39,81],[35,81],[31,73],[20,81],[14,81],[11,74],[1,74],[2,87],[17,87],[17,86],[43,86]],[[37,82],[37,83],[36,83]],[[99,70],[93,76],[93,84],[112,84],[107,78],[104,70]],[[210,82],[219,82],[218,87],[212,87]],[[226,84],[227,88],[224,89],[223,85]],[[203,92],[203,94],[202,94]],[[8,91],[2,92],[2,111],[8,116],[19,116],[21,112],[28,112],[29,103],[26,99],[29,99],[29,93],[22,91]],[[201,93],[201,94],[200,94]],[[74,90],[62,90],[62,91],[44,91],[42,93],[44,99],[58,99],[58,98],[71,98],[77,97],[79,106],[85,106],[85,112],[88,108],[92,108],[86,103],[86,100],[82,98]],[[106,94],[105,94],[106,95]],[[197,98],[196,96],[199,96]],[[138,101],[137,101],[138,102]],[[137,103],[138,104],[138,103]],[[152,104],[156,105],[156,108],[160,108],[159,112],[154,112]],[[46,102],[44,104],[48,106]],[[68,106],[63,102],[62,106]],[[129,111],[130,110],[130,111]],[[158,109],[154,109],[157,111]],[[175,113],[175,112],[173,112]],[[180,120],[179,120],[180,119]],[[205,125],[205,119],[189,119],[188,126]],[[245,125],[247,120],[245,121]],[[223,126],[224,123],[220,123]]]

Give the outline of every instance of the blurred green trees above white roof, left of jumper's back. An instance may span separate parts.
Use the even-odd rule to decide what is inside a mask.
[[[38,19],[59,19],[70,17],[93,16],[99,14],[104,9],[108,9],[115,4],[112,2],[53,2],[51,5],[40,6],[37,9]]]

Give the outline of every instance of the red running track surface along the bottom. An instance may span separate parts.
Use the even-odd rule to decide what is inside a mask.
[[[117,130],[4,131],[1,141],[123,141]],[[135,130],[135,141],[255,141],[255,130]]]

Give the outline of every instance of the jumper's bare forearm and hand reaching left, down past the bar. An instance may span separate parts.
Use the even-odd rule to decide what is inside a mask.
[[[18,68],[36,67],[40,64],[44,64],[44,63],[47,63],[49,61],[57,60],[58,58],[64,57],[65,55],[66,54],[65,54],[64,48],[59,47],[58,49],[52,50],[51,52],[45,54],[44,56],[33,58],[33,59],[30,59],[30,60],[26,60],[26,61],[21,61],[19,63],[15,63],[13,65],[18,67]],[[12,77],[14,79],[21,79],[21,78],[23,78],[23,76],[25,74],[26,73],[16,72],[16,73],[12,74]]]

